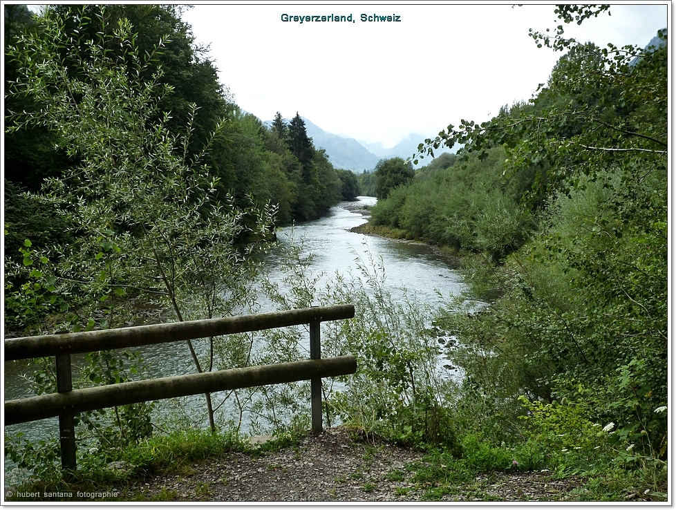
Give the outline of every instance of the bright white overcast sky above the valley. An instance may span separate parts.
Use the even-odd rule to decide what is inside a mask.
[[[561,57],[528,29],[554,29],[554,4],[451,2],[199,4],[185,12],[209,44],[220,82],[262,120],[296,112],[331,133],[392,147],[434,136],[461,118],[483,122],[528,100]],[[668,26],[668,2],[614,4],[566,35],[600,46],[645,46]],[[352,15],[350,22],[282,21],[282,15]],[[361,21],[396,15],[399,22]],[[292,19],[292,18],[291,18]],[[421,140],[422,141],[422,140]]]

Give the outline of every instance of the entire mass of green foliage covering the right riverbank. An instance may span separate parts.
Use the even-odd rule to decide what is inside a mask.
[[[606,9],[557,12],[581,22]],[[566,52],[532,100],[426,140],[418,156],[462,148],[379,200],[373,222],[467,254],[469,292],[438,319],[457,339],[448,355],[464,375],[461,428],[492,444],[576,437],[556,442],[563,451],[607,435],[619,464],[660,471],[668,451],[666,33],[641,50],[581,44],[565,39],[563,26],[554,32],[531,34]],[[581,415],[585,437],[574,431]],[[591,465],[575,455],[561,462]]]

